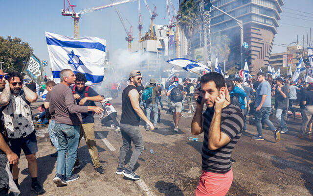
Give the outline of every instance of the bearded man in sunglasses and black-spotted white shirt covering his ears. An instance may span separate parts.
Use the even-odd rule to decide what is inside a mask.
[[[37,181],[37,161],[38,152],[35,127],[33,123],[30,103],[35,102],[37,94],[23,84],[23,76],[12,71],[7,74],[10,83],[11,98],[8,104],[2,107],[4,125],[7,130],[11,149],[20,158],[21,150],[28,161],[28,171],[32,179],[31,190],[37,194],[45,192]],[[19,187],[18,163],[12,166],[13,180]]]

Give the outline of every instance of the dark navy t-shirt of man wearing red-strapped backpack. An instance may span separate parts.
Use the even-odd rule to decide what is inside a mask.
[[[80,96],[80,99],[75,99],[76,102],[77,102],[77,105],[79,105],[79,101],[83,98],[85,98],[85,91],[86,91],[86,87],[83,89],[83,91],[78,91],[77,90],[77,87],[75,87],[75,94],[79,95]],[[73,91],[73,88],[74,86],[71,86],[70,89]],[[87,94],[88,94],[88,97],[94,97],[94,96],[98,96],[99,94],[97,92],[95,92],[91,87],[88,88],[88,91],[87,91]],[[85,106],[95,106],[95,103],[94,101],[86,101],[84,103]],[[92,111],[89,111],[87,113],[81,113],[82,115],[82,119],[83,119],[83,124],[86,124],[86,123],[94,123],[93,121],[93,114],[92,114]]]

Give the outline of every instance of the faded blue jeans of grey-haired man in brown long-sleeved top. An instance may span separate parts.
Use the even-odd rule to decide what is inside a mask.
[[[78,125],[55,123],[59,142],[56,173],[70,177],[77,157],[80,129]]]

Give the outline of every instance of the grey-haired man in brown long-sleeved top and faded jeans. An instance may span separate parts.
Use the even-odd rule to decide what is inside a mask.
[[[53,87],[49,103],[50,113],[54,112],[59,142],[56,175],[53,182],[57,186],[67,186],[68,182],[79,178],[78,174],[72,174],[72,169],[77,158],[79,145],[79,125],[82,124],[80,113],[88,113],[89,111],[101,113],[103,109],[76,104],[73,92],[68,88],[76,81],[76,76],[70,69],[64,69],[60,72],[60,81],[60,84]]]

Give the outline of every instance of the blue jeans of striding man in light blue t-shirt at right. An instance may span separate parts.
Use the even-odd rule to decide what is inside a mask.
[[[263,131],[261,121],[266,123],[268,127],[270,128],[270,130],[272,130],[273,132],[276,130],[273,123],[270,122],[268,119],[271,110],[272,110],[271,107],[262,107],[259,111],[255,112],[255,125],[258,130],[258,136],[260,137],[262,136],[262,131]]]

